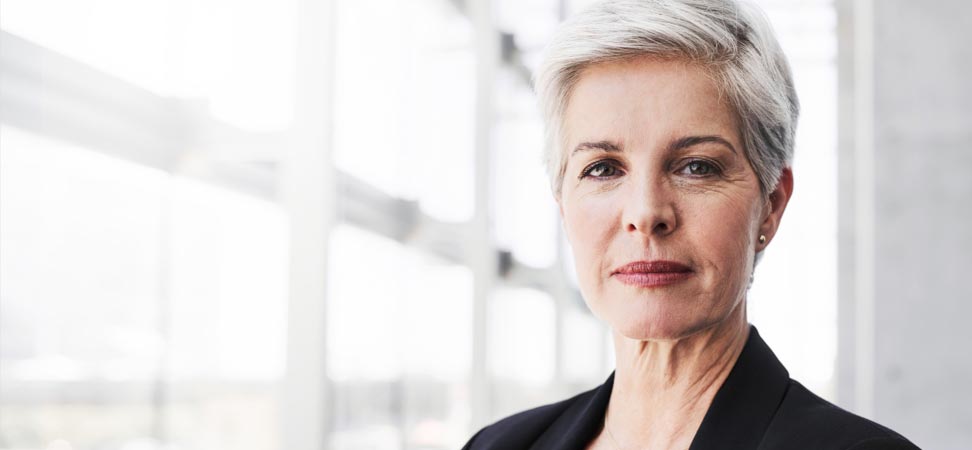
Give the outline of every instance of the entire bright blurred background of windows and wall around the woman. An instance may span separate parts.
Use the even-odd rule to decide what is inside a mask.
[[[541,165],[586,0],[3,0],[0,449],[455,449],[610,374]],[[803,112],[749,317],[972,445],[972,4],[761,0]]]

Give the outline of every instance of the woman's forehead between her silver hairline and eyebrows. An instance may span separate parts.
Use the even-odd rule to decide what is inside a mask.
[[[632,58],[582,70],[564,117],[566,147],[719,134],[738,143],[734,110],[705,67],[677,59]]]

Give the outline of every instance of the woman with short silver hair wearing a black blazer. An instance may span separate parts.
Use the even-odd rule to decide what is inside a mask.
[[[793,192],[799,109],[757,11],[599,3],[562,26],[536,87],[581,292],[617,368],[465,448],[916,448],[791,380],[748,325],[753,268]]]

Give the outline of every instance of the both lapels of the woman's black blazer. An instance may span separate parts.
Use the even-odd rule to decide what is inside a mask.
[[[790,375],[750,325],[749,337],[716,392],[689,450],[753,449],[783,400]],[[593,395],[582,396],[531,446],[531,450],[584,450],[600,431],[614,372]]]

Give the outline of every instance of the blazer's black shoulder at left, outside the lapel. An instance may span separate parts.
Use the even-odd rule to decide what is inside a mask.
[[[484,427],[473,435],[463,450],[518,450],[529,448],[564,411],[592,397],[597,389],[567,400],[528,409]]]

